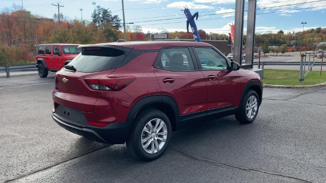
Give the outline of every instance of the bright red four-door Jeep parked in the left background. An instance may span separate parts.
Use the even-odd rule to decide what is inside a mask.
[[[48,71],[57,72],[67,65],[82,50],[77,44],[40,44],[37,50],[36,67],[40,77]]]

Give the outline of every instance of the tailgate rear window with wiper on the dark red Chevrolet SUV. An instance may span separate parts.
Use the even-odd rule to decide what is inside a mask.
[[[114,69],[126,57],[126,52],[107,47],[84,47],[68,65],[76,72],[99,72]]]

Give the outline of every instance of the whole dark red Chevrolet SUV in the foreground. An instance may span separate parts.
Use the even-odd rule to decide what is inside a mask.
[[[95,141],[123,144],[134,157],[161,156],[172,131],[235,114],[251,123],[262,100],[258,74],[197,42],[83,45],[56,73],[53,119]],[[240,70],[239,70],[240,69]]]

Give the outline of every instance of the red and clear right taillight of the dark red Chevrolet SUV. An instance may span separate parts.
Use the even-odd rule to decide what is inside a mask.
[[[85,81],[92,89],[118,91],[128,86],[135,79],[134,76],[108,76],[99,79],[85,78]]]

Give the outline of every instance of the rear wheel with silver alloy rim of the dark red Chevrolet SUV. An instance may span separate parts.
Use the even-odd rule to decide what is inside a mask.
[[[133,157],[152,161],[167,149],[171,133],[171,123],[164,112],[145,110],[135,119],[126,144]]]

